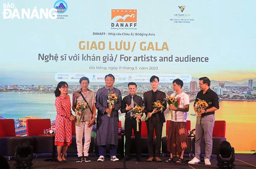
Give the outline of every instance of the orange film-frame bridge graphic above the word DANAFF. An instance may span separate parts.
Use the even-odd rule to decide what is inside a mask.
[[[112,9],[112,22],[137,22],[137,10],[134,9]]]

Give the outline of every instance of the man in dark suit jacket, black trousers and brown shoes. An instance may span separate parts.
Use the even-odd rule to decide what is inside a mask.
[[[148,148],[149,148],[149,159],[148,162],[152,162],[154,160],[154,150],[153,150],[153,136],[154,129],[156,130],[156,150],[155,150],[155,160],[156,162],[161,162],[160,157],[160,149],[161,149],[161,138],[162,138],[162,130],[163,124],[165,122],[164,118],[164,110],[166,109],[166,102],[164,98],[166,98],[166,94],[163,91],[157,90],[157,86],[159,85],[159,78],[157,76],[152,76],[150,78],[150,86],[152,86],[152,90],[144,93],[144,104],[145,104],[145,114],[147,117],[150,117],[147,123],[147,138],[148,138]],[[152,103],[159,101],[164,101],[163,112],[152,109]],[[154,111],[154,114],[150,115],[150,113]]]

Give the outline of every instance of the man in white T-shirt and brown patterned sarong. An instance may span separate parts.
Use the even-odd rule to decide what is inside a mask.
[[[184,150],[188,147],[187,141],[187,112],[189,111],[189,95],[182,92],[183,81],[173,81],[173,91],[167,101],[169,109],[173,110],[172,118],[168,127],[167,149],[171,153],[170,159],[165,162],[174,162],[175,156],[180,156],[177,163],[183,162]],[[172,102],[171,102],[172,101]],[[174,104],[173,101],[175,101]]]

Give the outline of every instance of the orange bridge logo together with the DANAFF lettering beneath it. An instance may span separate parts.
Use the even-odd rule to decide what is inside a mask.
[[[135,27],[137,26],[135,23],[137,22],[137,9],[112,9],[111,21],[111,27]]]

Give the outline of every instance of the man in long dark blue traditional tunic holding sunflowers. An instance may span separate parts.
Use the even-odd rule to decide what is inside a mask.
[[[118,110],[121,108],[121,92],[114,88],[115,77],[112,74],[105,76],[106,86],[100,88],[96,95],[97,116],[97,144],[99,146],[99,159],[104,161],[106,145],[110,145],[111,161],[118,161],[116,150],[118,147]],[[109,97],[110,96],[110,97]]]

